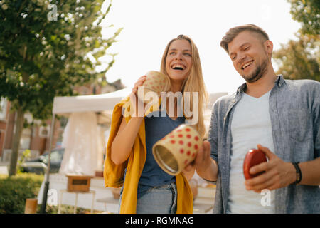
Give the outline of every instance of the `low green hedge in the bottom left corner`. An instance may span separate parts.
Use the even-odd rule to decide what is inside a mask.
[[[23,214],[26,199],[36,198],[43,175],[0,175],[0,214]]]

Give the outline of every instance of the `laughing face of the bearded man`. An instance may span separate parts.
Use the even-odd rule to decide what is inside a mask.
[[[270,42],[270,41],[265,41]],[[251,31],[242,31],[228,43],[229,56],[235,70],[248,83],[259,80],[267,72],[270,51],[260,34]]]

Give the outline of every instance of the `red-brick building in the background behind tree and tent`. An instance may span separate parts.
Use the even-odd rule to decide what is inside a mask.
[[[121,81],[114,83],[107,83],[107,86],[95,86],[94,84],[88,86],[79,86],[75,90],[80,95],[92,95],[100,93],[110,93],[115,90],[124,88]],[[26,113],[25,118],[31,122],[32,115]],[[0,100],[0,162],[9,162],[11,157],[12,140],[14,136],[16,113],[10,112],[10,102],[4,98]],[[60,118],[60,121],[55,121],[55,130],[53,133],[53,148],[59,147],[62,142],[62,134],[67,123],[66,118]],[[23,150],[31,150],[31,157],[42,155],[43,152],[49,150],[49,137],[51,120],[46,120],[46,127],[32,126],[24,128],[19,154]]]

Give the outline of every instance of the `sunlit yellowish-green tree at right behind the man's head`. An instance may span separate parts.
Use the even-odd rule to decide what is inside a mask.
[[[292,4],[293,19],[301,22],[302,28],[296,33],[297,41],[290,40],[274,51],[273,58],[279,66],[277,73],[282,73],[284,78],[320,81],[320,1],[288,1]]]

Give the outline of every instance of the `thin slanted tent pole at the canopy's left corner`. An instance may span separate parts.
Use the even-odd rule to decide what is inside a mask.
[[[45,185],[43,187],[41,214],[46,214],[46,204],[47,204],[48,190],[49,190],[50,158],[51,158],[54,128],[55,128],[55,113],[53,113],[53,118],[51,121],[51,128],[50,128],[49,157],[48,157],[48,166],[46,170]]]

